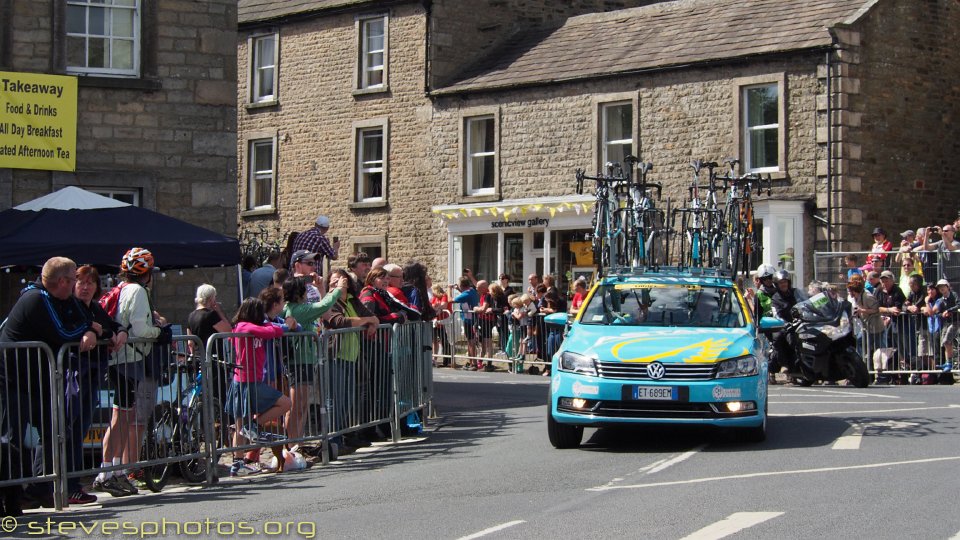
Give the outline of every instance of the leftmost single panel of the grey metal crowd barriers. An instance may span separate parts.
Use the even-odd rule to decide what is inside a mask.
[[[0,491],[25,486],[63,508],[59,375],[45,343],[0,343]],[[52,486],[48,483],[53,482]]]

